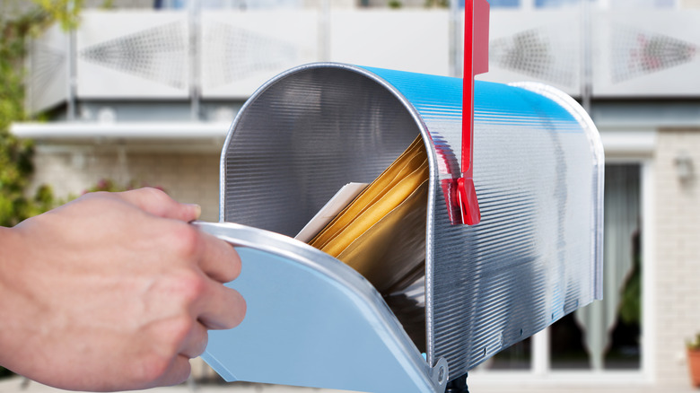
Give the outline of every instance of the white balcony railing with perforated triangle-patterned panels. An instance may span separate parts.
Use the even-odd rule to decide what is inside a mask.
[[[585,2],[583,2],[585,3]],[[89,11],[31,44],[28,107],[65,100],[242,100],[293,65],[459,75],[447,9]],[[495,8],[490,72],[573,96],[700,97],[700,10]]]

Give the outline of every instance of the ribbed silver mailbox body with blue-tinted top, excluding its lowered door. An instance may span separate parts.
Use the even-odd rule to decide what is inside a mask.
[[[241,109],[222,162],[223,220],[293,235],[421,132],[427,354],[451,378],[601,295],[603,153],[590,118],[540,85],[475,91],[476,226],[451,224],[441,186],[459,175],[460,79],[302,66]]]

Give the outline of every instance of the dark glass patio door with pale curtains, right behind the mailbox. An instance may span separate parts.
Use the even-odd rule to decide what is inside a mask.
[[[541,372],[542,364],[552,372],[641,369],[641,173],[637,163],[606,165],[604,300],[556,321],[539,340],[506,348],[479,370]],[[535,360],[541,345],[546,359]]]

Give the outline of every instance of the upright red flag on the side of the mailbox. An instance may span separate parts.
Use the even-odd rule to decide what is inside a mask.
[[[474,188],[474,76],[488,72],[488,17],[486,0],[464,4],[464,87],[462,90],[462,176],[457,179],[457,196],[462,223],[481,221],[477,190]]]

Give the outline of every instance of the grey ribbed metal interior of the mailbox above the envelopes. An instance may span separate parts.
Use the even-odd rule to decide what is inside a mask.
[[[294,236],[338,189],[371,182],[418,135],[390,92],[311,68],[261,88],[224,147],[223,220]]]

